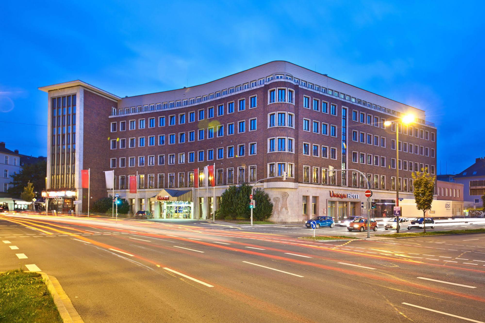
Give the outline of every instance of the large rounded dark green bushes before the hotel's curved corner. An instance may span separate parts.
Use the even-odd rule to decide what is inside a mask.
[[[243,183],[240,186],[231,185],[221,195],[219,210],[216,211],[218,219],[242,217],[249,219],[251,209],[249,208],[249,195],[251,186]],[[262,189],[256,189],[253,194],[256,202],[256,209],[253,210],[253,217],[258,221],[266,220],[273,212],[273,203],[268,194]]]

